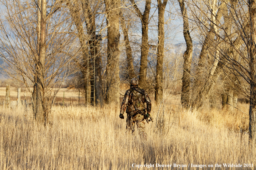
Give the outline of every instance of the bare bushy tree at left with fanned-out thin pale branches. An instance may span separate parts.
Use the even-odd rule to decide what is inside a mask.
[[[0,1],[0,56],[6,73],[31,93],[34,118],[47,124],[54,97],[70,73],[75,36],[58,0]],[[73,53],[73,55],[75,55]],[[31,84],[33,84],[33,92]]]

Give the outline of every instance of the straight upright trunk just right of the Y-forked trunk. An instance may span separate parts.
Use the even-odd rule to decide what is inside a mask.
[[[155,100],[156,104],[161,103],[163,98],[162,82],[163,82],[163,58],[164,58],[164,44],[165,44],[165,6],[168,0],[157,0],[158,5],[158,46],[157,46],[157,60],[156,60],[156,87]]]

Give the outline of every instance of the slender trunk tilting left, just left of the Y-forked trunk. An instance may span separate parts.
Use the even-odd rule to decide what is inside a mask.
[[[132,54],[131,54],[131,45],[130,45],[130,41],[129,41],[129,36],[128,36],[128,28],[125,26],[125,18],[122,14],[122,12],[120,12],[120,23],[122,26],[122,30],[124,33],[124,40],[125,40],[125,52],[126,52],[126,56],[127,56],[127,64],[128,64],[128,79],[131,80],[132,78],[135,77],[135,73],[134,73],[134,67],[133,67],[133,58],[132,58]]]

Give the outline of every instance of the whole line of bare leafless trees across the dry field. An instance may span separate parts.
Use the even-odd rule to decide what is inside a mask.
[[[182,106],[197,110],[221,101],[232,110],[244,95],[250,100],[250,140],[255,139],[254,0],[0,1],[2,67],[31,91],[38,121],[47,124],[56,93],[71,74],[89,103],[119,103],[120,83],[133,77],[161,103],[164,59],[171,57],[165,55],[166,37],[170,20],[180,18],[186,43]],[[195,42],[201,44],[199,56],[193,56]]]

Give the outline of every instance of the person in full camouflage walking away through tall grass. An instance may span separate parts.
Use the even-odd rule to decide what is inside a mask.
[[[145,104],[147,103],[147,113]],[[145,120],[153,121],[150,116],[151,101],[145,90],[138,88],[138,80],[136,78],[131,79],[131,88],[125,92],[125,97],[122,101],[121,111],[119,117],[124,119],[124,112],[126,110],[126,129],[135,131],[135,122],[140,135],[147,137],[144,132]],[[150,119],[149,119],[150,118]]]

